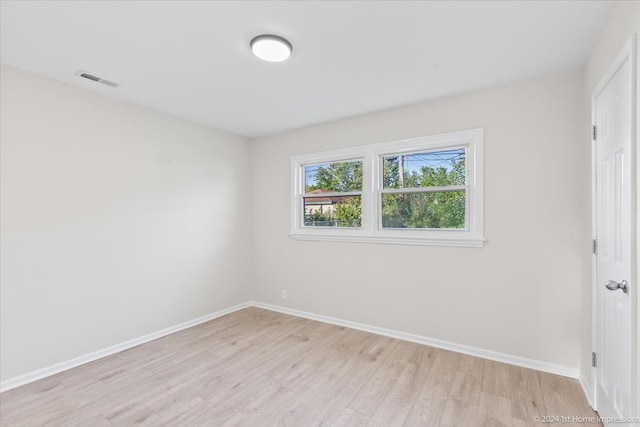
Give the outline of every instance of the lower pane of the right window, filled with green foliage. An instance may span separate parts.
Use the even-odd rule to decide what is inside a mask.
[[[382,195],[383,228],[465,228],[465,191]]]

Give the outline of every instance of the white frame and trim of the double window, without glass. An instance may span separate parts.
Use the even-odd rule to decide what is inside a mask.
[[[445,149],[465,149],[465,229],[393,229],[381,226],[382,158]],[[305,166],[362,160],[362,225],[358,228],[304,226]],[[404,189],[405,192],[425,191]],[[396,191],[396,190],[393,190]],[[383,244],[483,247],[484,237],[484,131],[423,136],[369,144],[291,158],[291,224],[289,237],[298,240]]]

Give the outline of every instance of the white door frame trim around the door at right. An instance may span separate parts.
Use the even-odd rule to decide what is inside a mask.
[[[629,208],[631,209],[631,277],[629,278],[630,284],[630,302],[631,302],[631,407],[635,413],[629,414],[629,416],[640,416],[640,404],[637,403],[640,399],[640,330],[638,329],[638,322],[640,321],[638,308],[640,307],[640,292],[638,292],[638,197],[637,197],[637,165],[638,165],[638,152],[637,152],[637,88],[636,88],[636,73],[637,73],[637,59],[636,59],[636,35],[633,34],[625,43],[624,47],[620,50],[615,59],[611,62],[607,71],[604,73],[599,83],[591,92],[591,125],[596,124],[596,97],[602,92],[607,83],[614,76],[616,71],[620,68],[625,61],[629,61],[631,66],[630,75],[630,88],[631,88],[631,201]],[[593,128],[592,128],[593,129]],[[596,141],[593,139],[593,133],[591,134],[591,238],[596,239],[596,223],[597,223],[597,200],[596,200],[596,175],[597,175],[597,159],[596,159]],[[596,135],[597,136],[597,135]],[[597,252],[597,248],[596,248]],[[597,343],[597,289],[598,286],[602,286],[597,283],[597,255],[591,254],[591,351],[596,352]],[[598,369],[591,367],[591,406],[593,409],[598,410],[598,395],[597,395],[597,380]]]

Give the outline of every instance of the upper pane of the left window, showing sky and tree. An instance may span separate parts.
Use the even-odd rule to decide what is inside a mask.
[[[362,191],[362,161],[304,167],[305,193]]]

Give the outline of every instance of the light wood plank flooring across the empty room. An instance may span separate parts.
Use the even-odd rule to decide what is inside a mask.
[[[552,425],[546,416],[597,414],[573,379],[258,308],[0,395],[2,427]]]

